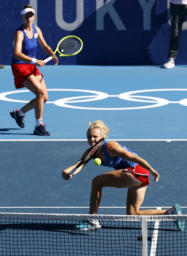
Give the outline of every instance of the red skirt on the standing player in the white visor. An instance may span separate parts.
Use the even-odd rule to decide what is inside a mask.
[[[30,75],[41,75],[43,76],[39,69],[36,67],[35,64],[28,64],[28,63],[23,63],[23,64],[16,64],[16,63],[11,63],[12,67],[12,73],[14,76],[14,84],[15,88],[23,88],[25,87],[23,83],[25,80],[30,76]]]

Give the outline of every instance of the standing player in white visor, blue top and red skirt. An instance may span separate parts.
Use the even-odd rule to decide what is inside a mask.
[[[50,133],[45,129],[42,119],[43,105],[48,101],[48,92],[43,75],[40,74],[39,69],[36,67],[36,65],[39,67],[44,66],[45,62],[36,59],[37,44],[39,42],[41,48],[49,56],[53,54],[53,50],[45,42],[40,28],[33,25],[34,14],[35,11],[30,5],[25,5],[21,10],[23,24],[14,34],[11,67],[16,89],[26,87],[36,95],[36,98],[19,110],[12,110],[10,114],[16,120],[16,123],[21,128],[24,128],[25,113],[34,108],[36,118],[34,134],[49,136]],[[54,61],[55,65],[57,65],[58,59],[54,58]]]

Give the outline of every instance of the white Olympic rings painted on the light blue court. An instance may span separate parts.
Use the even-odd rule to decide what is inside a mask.
[[[169,101],[167,99],[152,97],[152,96],[141,96],[141,95],[133,95],[138,93],[148,93],[148,92],[163,92],[163,91],[187,91],[187,89],[150,89],[150,90],[137,90],[137,91],[130,91],[121,93],[118,95],[109,95],[104,92],[99,91],[92,91],[92,90],[81,90],[81,89],[48,89],[48,91],[69,91],[69,92],[83,92],[88,93],[91,95],[86,96],[73,96],[58,99],[55,101],[48,101],[46,103],[53,103],[60,107],[66,108],[75,108],[75,109],[85,109],[85,110],[132,110],[132,109],[146,109],[146,108],[155,108],[165,106],[169,103],[178,103],[183,106],[187,106],[187,98],[182,99],[180,101]],[[10,91],[0,93],[0,100],[2,101],[9,101],[9,102],[18,102],[18,103],[28,103],[29,101],[25,100],[16,100],[7,98],[7,95],[10,94],[18,94],[18,93],[27,93],[30,92],[29,90],[20,90],[20,91]],[[149,103],[149,105],[144,106],[135,106],[135,107],[116,107],[116,108],[103,108],[103,107],[81,107],[70,105],[72,103],[85,103],[85,102],[93,102],[107,99],[108,97],[118,97],[119,99],[131,102],[139,102],[139,103]]]

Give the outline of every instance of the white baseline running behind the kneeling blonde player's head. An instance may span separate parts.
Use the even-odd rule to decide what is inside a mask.
[[[187,139],[109,139],[110,141],[166,141],[166,142],[172,142],[172,141],[187,141]],[[43,139],[43,140],[0,140],[0,141],[87,141],[87,139]]]

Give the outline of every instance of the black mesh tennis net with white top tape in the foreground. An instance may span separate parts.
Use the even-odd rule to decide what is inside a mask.
[[[102,228],[78,231],[80,220]],[[173,222],[187,215],[127,216],[0,213],[0,255],[187,255],[187,229]]]

